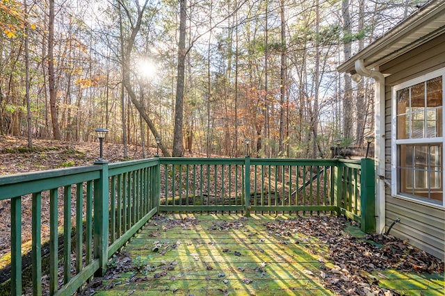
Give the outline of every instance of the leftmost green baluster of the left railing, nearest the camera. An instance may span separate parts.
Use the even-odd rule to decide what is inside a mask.
[[[11,199],[11,294],[22,295],[22,197]]]

